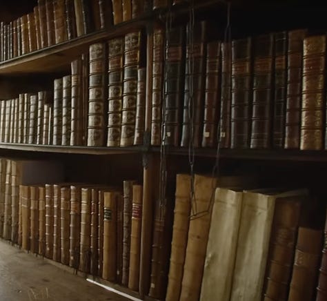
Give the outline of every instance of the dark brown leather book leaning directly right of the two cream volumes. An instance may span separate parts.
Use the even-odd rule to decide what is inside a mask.
[[[262,298],[288,298],[301,203],[307,195],[306,190],[294,191],[288,197],[279,198],[275,202]]]

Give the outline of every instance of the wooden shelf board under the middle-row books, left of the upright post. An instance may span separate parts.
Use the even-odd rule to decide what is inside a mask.
[[[143,146],[93,147],[93,146],[54,146],[54,145],[39,145],[39,144],[0,143],[0,149],[37,151],[43,153],[116,155],[116,154],[141,153],[143,151]]]

